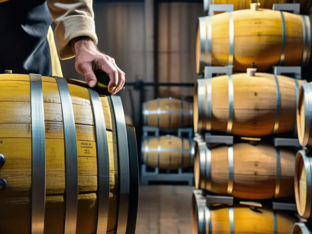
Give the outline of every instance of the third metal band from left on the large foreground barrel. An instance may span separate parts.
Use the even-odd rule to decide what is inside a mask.
[[[107,144],[106,125],[100,96],[88,89],[93,114],[96,139],[96,158],[98,174],[98,217],[97,234],[106,234],[110,201],[110,156]]]

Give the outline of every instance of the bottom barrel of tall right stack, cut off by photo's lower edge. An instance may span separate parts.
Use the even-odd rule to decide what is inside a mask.
[[[296,220],[281,212],[246,206],[206,206],[206,199],[198,190],[192,198],[192,234],[207,233],[257,233],[290,234]]]

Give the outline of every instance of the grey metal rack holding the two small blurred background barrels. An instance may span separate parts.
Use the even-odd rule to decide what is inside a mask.
[[[168,133],[175,132],[178,137],[182,137],[183,133],[188,134],[188,139],[192,139],[192,128],[179,128],[179,129],[159,129],[152,126],[143,126],[143,140],[150,137],[159,137],[160,131],[166,131]],[[152,133],[152,135],[149,135]],[[194,173],[183,172],[182,168],[178,169],[178,173],[171,173],[171,170],[167,170],[167,173],[159,173],[159,168],[155,168],[154,172],[147,171],[147,165],[141,165],[141,182],[143,185],[148,185],[152,181],[166,181],[166,182],[187,182],[189,186],[193,186]]]

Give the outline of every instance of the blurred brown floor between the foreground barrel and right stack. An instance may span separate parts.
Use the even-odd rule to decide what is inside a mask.
[[[140,186],[136,234],[191,233],[191,186]]]

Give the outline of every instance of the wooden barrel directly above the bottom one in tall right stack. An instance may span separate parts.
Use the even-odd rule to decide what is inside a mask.
[[[209,148],[197,143],[195,187],[242,199],[294,195],[295,153],[270,145],[238,143]]]

